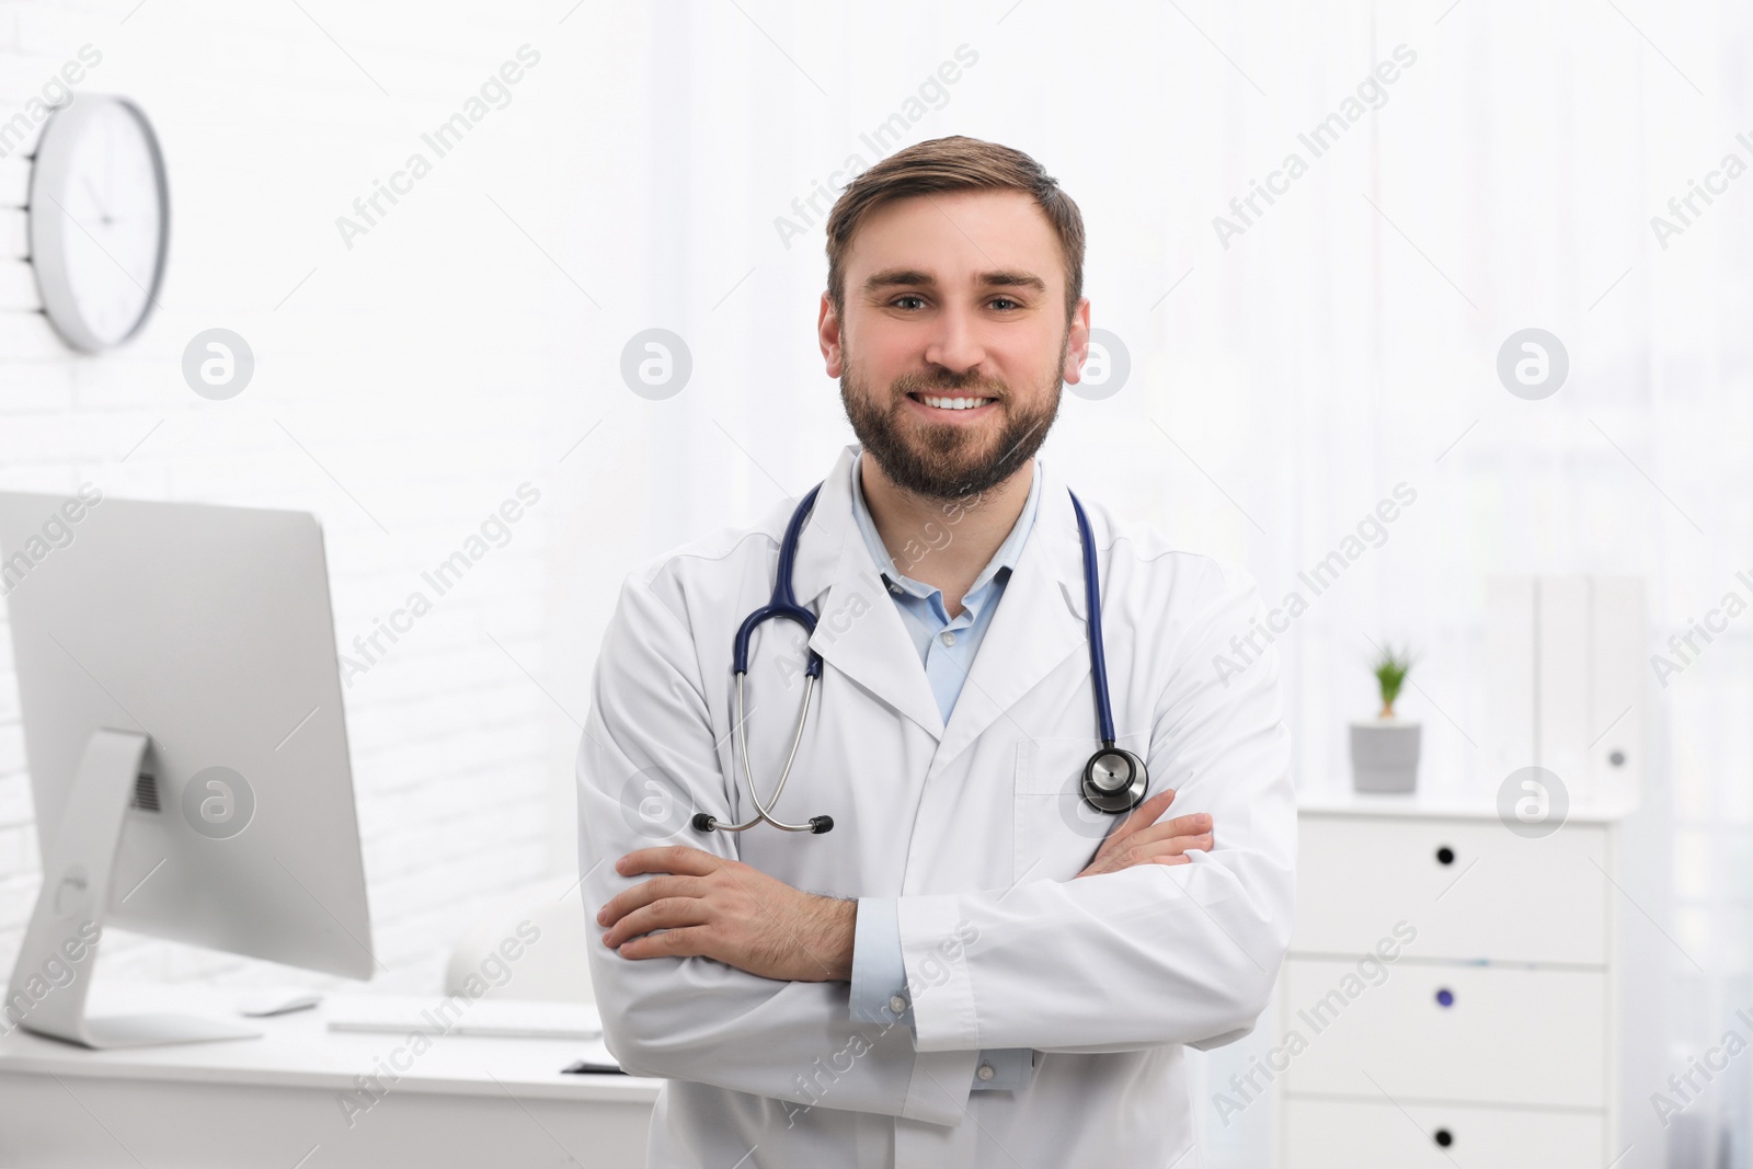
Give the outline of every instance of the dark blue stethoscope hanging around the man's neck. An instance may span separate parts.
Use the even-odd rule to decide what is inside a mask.
[[[812,487],[810,494],[798,505],[798,510],[792,512],[791,522],[785,524],[785,536],[778,545],[778,571],[773,580],[773,598],[743,619],[733,643],[731,671],[736,675],[736,750],[743,757],[743,778],[749,782],[749,799],[756,806],[756,815],[743,824],[722,824],[717,817],[699,811],[692,820],[694,829],[699,832],[742,832],[763,820],[787,832],[829,832],[834,827],[833,817],[810,817],[806,824],[785,824],[770,810],[771,804],[778,803],[780,792],[785,790],[785,780],[791,778],[791,764],[798,759],[798,745],[803,741],[803,726],[810,717],[815,680],[822,677],[822,655],[813,648],[810,650],[810,661],[803,670],[803,710],[798,712],[798,729],[791,736],[785,769],[778,773],[778,785],[773,787],[773,799],[768,804],[761,803],[761,794],[756,790],[756,776],[749,769],[749,738],[743,712],[743,678],[749,677],[749,638],[756,627],[763,620],[784,617],[803,626],[805,636],[815,634],[815,613],[798,605],[798,598],[791,591],[791,573],[798,559],[798,535],[803,531],[805,521],[810,519],[810,510],[815,507],[815,496],[820,491],[822,484]],[[1076,492],[1071,492],[1071,508],[1078,515],[1078,538],[1083,545],[1083,599],[1089,610],[1090,677],[1096,684],[1096,727],[1101,734],[1101,748],[1083,764],[1083,782],[1080,787],[1083,801],[1090,808],[1108,815],[1120,815],[1143,803],[1145,792],[1150,789],[1150,771],[1145,768],[1143,759],[1113,745],[1113,708],[1108,703],[1108,662],[1101,652],[1101,587],[1096,580],[1096,538],[1090,535],[1090,522],[1083,515],[1083,505],[1078,503]]]

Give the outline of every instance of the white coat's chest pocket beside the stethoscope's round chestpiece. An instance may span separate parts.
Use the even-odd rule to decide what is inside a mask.
[[[1143,754],[1143,736],[1120,747]],[[1096,754],[1092,736],[1043,736],[1017,743],[1011,827],[1011,883],[1066,882],[1083,871],[1124,817],[1096,811],[1083,799],[1083,768]]]

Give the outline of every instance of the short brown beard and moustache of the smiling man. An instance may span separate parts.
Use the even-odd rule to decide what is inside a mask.
[[[1043,379],[1054,386],[1052,398],[1036,410],[1018,408],[1015,394],[1004,382],[976,373],[957,377],[947,370],[898,377],[889,389],[889,400],[880,401],[854,372],[850,351],[845,352],[847,368],[840,375],[840,403],[862,449],[898,487],[926,499],[966,499],[1010,478],[1047,442],[1047,431],[1059,415],[1059,398],[1064,389],[1059,370],[1064,368],[1069,342],[1068,333],[1059,347],[1059,363]],[[992,398],[992,407],[1003,422],[997,435],[992,435],[990,428],[975,429],[908,417],[908,394],[938,391],[975,391],[982,398]]]

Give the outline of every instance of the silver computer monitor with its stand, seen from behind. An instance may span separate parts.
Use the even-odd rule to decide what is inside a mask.
[[[44,882],[0,1031],[259,1034],[88,1017],[105,924],[370,978],[323,529],[305,512],[0,492]]]

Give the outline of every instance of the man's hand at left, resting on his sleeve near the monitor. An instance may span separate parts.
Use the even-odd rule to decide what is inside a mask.
[[[596,915],[610,927],[603,945],[624,959],[699,955],[782,981],[852,978],[857,901],[806,894],[687,845],[638,848],[615,871],[664,875],[621,890]]]

